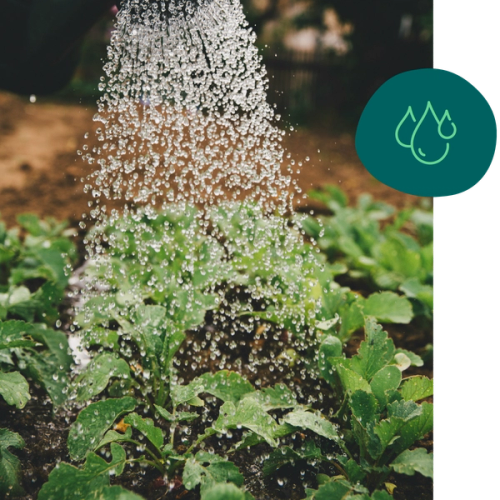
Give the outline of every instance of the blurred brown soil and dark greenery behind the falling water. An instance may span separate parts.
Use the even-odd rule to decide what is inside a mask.
[[[420,203],[374,179],[360,163],[354,133],[371,95],[392,76],[432,67],[431,0],[242,0],[269,77],[268,100],[294,132],[285,147],[309,157],[303,191],[336,184],[355,202],[361,192],[403,208]],[[0,213],[80,220],[89,166],[76,154],[94,129],[97,86],[113,28],[110,11],[86,36],[80,64],[50,96],[0,91]],[[91,147],[91,145],[90,145]],[[427,200],[429,202],[429,200]]]

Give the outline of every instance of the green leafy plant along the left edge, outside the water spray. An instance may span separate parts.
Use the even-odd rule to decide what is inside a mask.
[[[55,406],[67,399],[73,363],[66,335],[53,327],[68,284],[66,267],[76,250],[67,223],[32,214],[17,218],[24,230],[0,221],[0,396],[22,409],[30,400],[29,380],[38,382]],[[21,436],[0,429],[0,493],[22,494],[20,462],[9,447]]]

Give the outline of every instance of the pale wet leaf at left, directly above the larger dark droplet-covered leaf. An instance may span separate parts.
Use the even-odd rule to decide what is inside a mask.
[[[88,401],[106,389],[112,377],[128,378],[127,362],[114,354],[104,352],[96,356],[86,370],[75,380],[77,401]]]

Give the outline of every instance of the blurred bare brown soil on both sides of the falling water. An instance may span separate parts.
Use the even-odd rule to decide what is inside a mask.
[[[0,214],[8,226],[23,212],[69,219],[74,225],[81,220],[89,195],[80,179],[90,167],[76,151],[84,143],[90,149],[97,143],[94,113],[83,105],[32,104],[0,92]],[[85,140],[87,132],[90,137]],[[377,181],[359,161],[352,135],[298,130],[289,132],[284,144],[297,164],[303,162],[297,176],[303,192],[336,184],[352,201],[363,192],[398,208],[421,200]],[[314,201],[305,204],[319,208]]]

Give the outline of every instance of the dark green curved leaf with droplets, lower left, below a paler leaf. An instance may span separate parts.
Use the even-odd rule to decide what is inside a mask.
[[[131,397],[107,399],[92,403],[83,409],[71,425],[68,450],[73,460],[82,460],[98,446],[105,432],[124,413],[135,409],[136,400]]]

